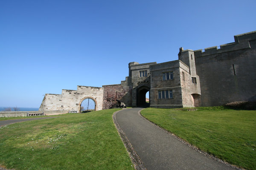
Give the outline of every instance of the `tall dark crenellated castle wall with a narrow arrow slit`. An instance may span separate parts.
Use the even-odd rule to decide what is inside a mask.
[[[202,106],[256,99],[256,31],[234,38],[220,48],[194,51]]]

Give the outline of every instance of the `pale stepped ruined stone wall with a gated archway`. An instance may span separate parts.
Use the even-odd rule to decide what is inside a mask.
[[[103,88],[77,86],[77,90],[62,90],[61,94],[45,94],[39,111],[80,111],[86,98],[96,102],[96,111],[103,108]]]

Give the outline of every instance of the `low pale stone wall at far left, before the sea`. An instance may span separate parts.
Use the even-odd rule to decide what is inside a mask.
[[[1,111],[0,117],[25,117],[27,113],[43,113],[45,115],[56,115],[68,113],[68,111]]]

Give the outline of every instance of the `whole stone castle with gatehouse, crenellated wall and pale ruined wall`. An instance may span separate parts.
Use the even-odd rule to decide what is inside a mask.
[[[84,99],[95,110],[127,106],[183,108],[217,106],[256,100],[256,31],[234,36],[235,42],[200,50],[180,48],[178,60],[163,63],[130,62],[121,84],[77,86],[61,94],[45,94],[39,111],[80,112]],[[145,94],[149,91],[149,103]]]

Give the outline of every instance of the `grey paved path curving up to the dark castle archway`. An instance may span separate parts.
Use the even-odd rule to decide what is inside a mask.
[[[151,125],[138,115],[141,109],[119,111],[116,120],[147,170],[234,170]]]

